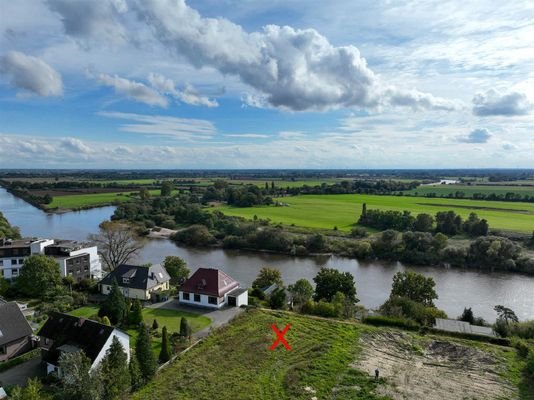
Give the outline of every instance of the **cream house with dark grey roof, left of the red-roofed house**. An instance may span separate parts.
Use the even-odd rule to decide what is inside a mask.
[[[98,283],[102,294],[109,294],[116,281],[125,297],[130,299],[151,300],[158,292],[170,289],[167,270],[159,264],[128,265],[121,264]]]

